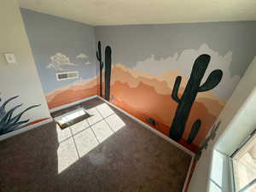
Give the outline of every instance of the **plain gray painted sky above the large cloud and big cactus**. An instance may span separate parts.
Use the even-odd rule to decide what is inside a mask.
[[[256,53],[256,21],[208,22],[170,25],[96,26],[96,40],[111,44],[113,62],[135,66],[150,55],[166,58],[183,49],[208,44],[224,55],[230,49],[232,75],[245,73]]]

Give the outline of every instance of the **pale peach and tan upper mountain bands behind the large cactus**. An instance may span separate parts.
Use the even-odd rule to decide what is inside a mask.
[[[177,71],[154,75],[125,67],[125,65],[122,64],[116,64],[112,69],[111,82],[112,84],[114,84],[116,81],[127,83],[132,88],[143,83],[153,87],[157,94],[171,95],[177,76]],[[187,77],[182,76],[179,92],[180,95],[182,95],[188,80],[189,79]],[[204,105],[209,109],[209,113],[212,113],[212,115],[218,115],[225,105],[225,101],[218,98],[218,96],[216,96],[212,91],[199,93],[196,97],[196,101],[204,103]],[[213,103],[211,101],[215,102]],[[216,102],[218,102],[217,105]]]

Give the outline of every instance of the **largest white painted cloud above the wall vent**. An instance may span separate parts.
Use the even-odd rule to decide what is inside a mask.
[[[69,57],[61,53],[56,53],[50,57],[51,63],[46,68],[54,68],[56,71],[62,71],[63,66],[76,66],[71,63]]]

